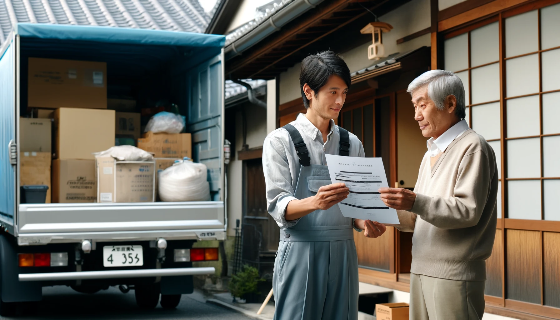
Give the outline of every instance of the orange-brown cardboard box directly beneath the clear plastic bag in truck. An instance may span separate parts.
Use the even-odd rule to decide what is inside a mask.
[[[146,132],[138,139],[138,147],[152,152],[156,158],[192,158],[190,133]]]

